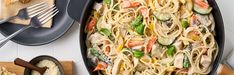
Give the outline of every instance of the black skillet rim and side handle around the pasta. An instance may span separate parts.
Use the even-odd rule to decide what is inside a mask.
[[[99,0],[100,1],[100,0]],[[90,15],[90,11],[92,10],[93,4],[94,4],[94,0],[71,0],[69,6],[68,6],[68,13],[69,15],[75,19],[76,21],[78,21],[80,23],[80,47],[81,47],[81,53],[82,53],[82,57],[84,60],[84,63],[86,65],[87,70],[89,71],[90,74],[96,74],[93,73],[92,70],[94,69],[93,64],[90,62],[90,60],[87,58],[87,47],[85,45],[85,40],[86,40],[86,34],[84,32],[85,29],[85,25],[86,25],[86,21]],[[220,10],[218,8],[218,5],[216,4],[215,0],[208,0],[209,4],[213,7],[213,16],[215,19],[215,23],[216,23],[216,41],[218,43],[219,46],[219,51],[218,51],[218,55],[215,59],[215,62],[213,64],[213,69],[212,71],[209,73],[209,75],[214,75],[214,73],[216,72],[216,69],[218,67],[218,63],[221,61],[221,57],[223,54],[223,49],[224,49],[224,24],[223,24],[223,19],[220,13]],[[84,6],[83,8],[76,8],[79,6]],[[82,11],[80,11],[82,10]],[[81,13],[82,12],[82,13]]]

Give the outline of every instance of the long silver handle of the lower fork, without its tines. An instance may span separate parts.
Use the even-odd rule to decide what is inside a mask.
[[[0,48],[1,48],[2,46],[4,46],[10,39],[12,39],[13,37],[15,37],[16,35],[18,35],[19,33],[23,32],[23,31],[25,31],[26,29],[28,29],[28,28],[30,28],[30,27],[31,27],[31,25],[26,26],[26,27],[23,27],[23,28],[21,28],[20,30],[18,30],[18,31],[16,31],[16,32],[14,32],[13,34],[7,36],[6,38],[2,39],[2,40],[0,41]]]

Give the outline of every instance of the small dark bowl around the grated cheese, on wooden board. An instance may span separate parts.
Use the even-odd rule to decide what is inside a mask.
[[[50,60],[53,61],[59,68],[60,71],[60,75],[64,75],[64,69],[61,65],[61,63],[54,57],[48,56],[48,55],[41,55],[38,57],[33,58],[29,63],[36,65],[37,63],[39,63],[42,60]],[[24,75],[31,75],[31,69],[25,68],[24,69]]]

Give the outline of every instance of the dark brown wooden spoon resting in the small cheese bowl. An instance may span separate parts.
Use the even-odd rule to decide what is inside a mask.
[[[35,65],[32,65],[31,63],[29,63],[23,59],[20,59],[20,58],[16,58],[14,63],[16,65],[38,71],[41,75],[43,75],[47,69],[47,67],[40,68],[40,67],[37,67]]]

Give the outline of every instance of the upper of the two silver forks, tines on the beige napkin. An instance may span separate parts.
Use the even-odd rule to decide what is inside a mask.
[[[41,2],[27,8],[20,9],[16,16],[8,17],[0,20],[0,24],[5,23],[11,19],[18,17],[19,19],[30,19],[42,12],[43,10],[48,8],[48,5],[45,2]]]

